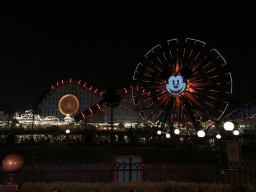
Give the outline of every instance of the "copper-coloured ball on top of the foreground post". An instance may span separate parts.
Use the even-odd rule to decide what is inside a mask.
[[[15,173],[20,170],[23,165],[23,158],[19,154],[10,154],[3,160],[2,167],[4,172]]]

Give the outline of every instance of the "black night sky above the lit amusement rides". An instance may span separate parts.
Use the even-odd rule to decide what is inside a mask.
[[[235,102],[255,100],[255,6],[159,2],[1,3],[0,106],[28,109],[52,83],[70,77],[99,88],[127,86],[149,49],[186,37],[224,56]]]

